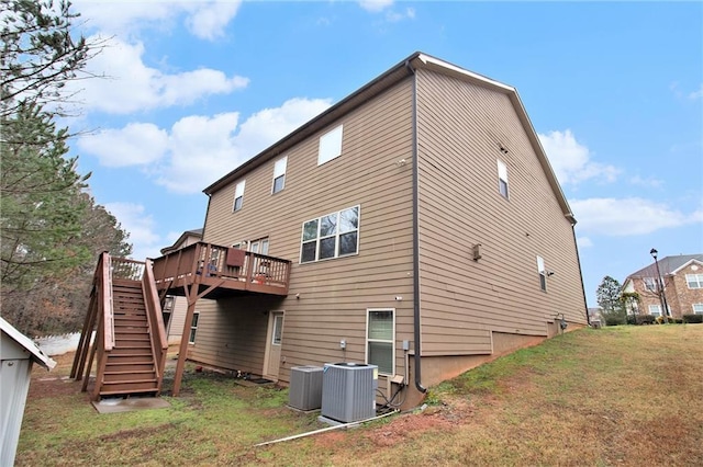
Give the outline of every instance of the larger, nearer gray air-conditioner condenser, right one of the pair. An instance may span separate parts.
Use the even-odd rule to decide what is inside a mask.
[[[326,363],[322,376],[324,418],[342,423],[376,415],[378,366],[362,363]]]

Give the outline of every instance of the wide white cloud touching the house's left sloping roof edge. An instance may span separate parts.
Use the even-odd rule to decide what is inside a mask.
[[[238,125],[239,114],[188,116],[170,130],[130,124],[79,140],[104,166],[142,166],[170,192],[197,193],[331,105],[323,99],[291,99]]]

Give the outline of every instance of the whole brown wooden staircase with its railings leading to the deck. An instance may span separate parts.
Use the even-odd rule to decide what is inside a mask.
[[[93,400],[158,396],[167,351],[150,262],[102,253],[70,376],[88,390],[96,361]]]

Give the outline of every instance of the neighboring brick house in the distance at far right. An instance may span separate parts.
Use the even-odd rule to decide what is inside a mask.
[[[662,258],[659,260],[659,272],[669,312],[673,318],[691,314],[703,315],[703,254]],[[638,314],[661,316],[656,263],[628,275],[623,283],[623,292],[639,294]],[[632,314],[632,308],[627,312]]]

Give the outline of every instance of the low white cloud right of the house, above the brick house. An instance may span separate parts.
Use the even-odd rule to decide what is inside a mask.
[[[703,221],[703,209],[683,214],[663,203],[639,197],[589,198],[570,202],[579,232],[623,237]]]

